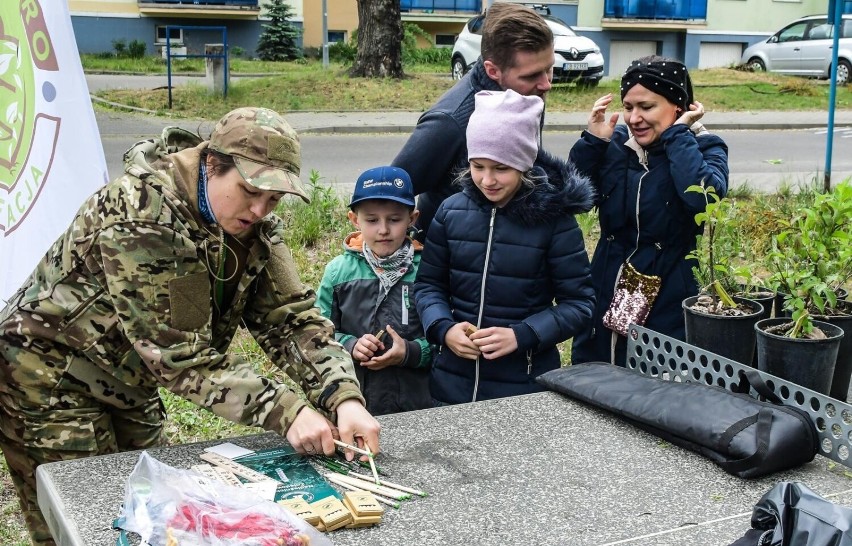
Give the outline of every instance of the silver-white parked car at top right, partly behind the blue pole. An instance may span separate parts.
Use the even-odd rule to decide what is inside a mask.
[[[833,38],[834,26],[825,15],[802,17],[746,49],[741,63],[755,71],[827,79]],[[837,84],[846,85],[852,73],[852,14],[843,16],[839,44]]]

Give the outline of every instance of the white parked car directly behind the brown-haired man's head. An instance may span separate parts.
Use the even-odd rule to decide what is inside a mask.
[[[597,44],[589,38],[578,36],[560,19],[549,15],[543,17],[547,26],[553,31],[553,42],[556,47],[553,81],[576,81],[578,85],[589,87],[600,83],[604,75],[604,59]],[[484,20],[483,14],[468,21],[456,39],[451,61],[453,79],[460,80],[479,59]]]

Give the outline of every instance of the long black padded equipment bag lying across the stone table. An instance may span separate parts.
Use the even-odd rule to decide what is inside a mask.
[[[746,377],[758,392],[780,402],[757,372]],[[819,445],[805,411],[719,387],[665,381],[599,363],[552,370],[537,381],[704,455],[741,478],[812,461]]]

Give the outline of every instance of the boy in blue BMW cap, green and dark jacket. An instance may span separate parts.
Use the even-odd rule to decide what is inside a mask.
[[[370,413],[431,407],[433,348],[411,296],[423,248],[409,237],[418,216],[411,178],[398,167],[369,169],[358,178],[349,208],[359,231],[326,266],[317,305],[352,355]]]

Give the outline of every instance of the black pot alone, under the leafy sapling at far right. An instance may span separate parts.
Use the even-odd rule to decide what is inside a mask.
[[[754,325],[757,332],[757,368],[830,396],[843,330],[815,320],[814,326],[825,332],[827,339],[793,339],[764,331],[789,322],[792,322],[789,318],[776,317],[763,319]]]

